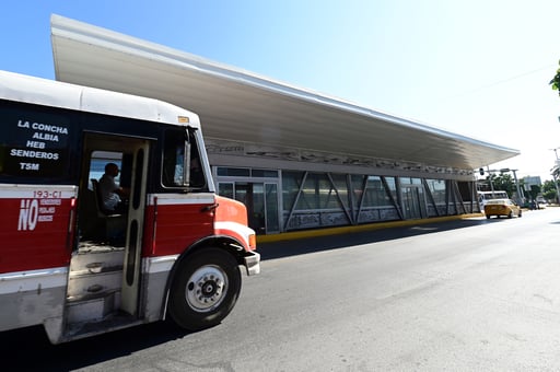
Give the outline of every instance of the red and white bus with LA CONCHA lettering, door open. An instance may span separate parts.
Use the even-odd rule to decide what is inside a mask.
[[[160,101],[0,71],[0,330],[58,344],[170,315],[219,324],[258,274],[242,204],[215,194],[199,118]],[[104,210],[97,178],[130,190]]]

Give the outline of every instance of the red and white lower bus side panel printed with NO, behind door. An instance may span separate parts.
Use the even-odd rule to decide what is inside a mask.
[[[0,185],[0,330],[62,315],[74,186]]]

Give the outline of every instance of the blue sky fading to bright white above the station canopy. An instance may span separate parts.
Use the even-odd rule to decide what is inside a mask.
[[[520,150],[485,164],[517,177],[560,156],[558,0],[5,0],[0,70],[55,79],[51,14]]]

